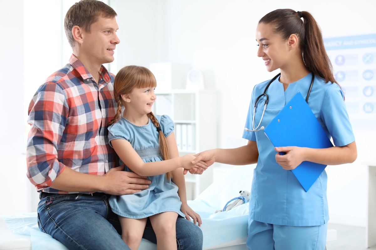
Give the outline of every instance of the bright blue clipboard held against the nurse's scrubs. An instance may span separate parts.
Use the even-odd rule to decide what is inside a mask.
[[[299,91],[265,127],[264,132],[274,147],[333,147],[332,142]],[[285,153],[281,152],[280,154]],[[302,162],[292,172],[305,191],[308,192],[308,189],[324,171],[325,167],[326,165],[323,164]]]

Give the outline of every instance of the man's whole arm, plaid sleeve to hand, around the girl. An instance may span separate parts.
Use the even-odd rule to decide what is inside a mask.
[[[27,177],[38,190],[52,187],[68,192],[102,191],[122,195],[148,188],[149,180],[121,171],[122,168],[99,176],[76,172],[59,162],[58,145],[67,128],[68,112],[65,93],[54,82],[42,85],[30,102]]]

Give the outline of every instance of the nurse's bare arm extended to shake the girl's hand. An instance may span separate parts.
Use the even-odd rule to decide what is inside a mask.
[[[257,163],[258,149],[256,141],[248,141],[247,145],[238,148],[216,148],[196,154],[193,164],[204,161],[208,166],[214,162],[230,165],[248,165]]]

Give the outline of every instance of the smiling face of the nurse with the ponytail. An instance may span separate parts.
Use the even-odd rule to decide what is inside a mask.
[[[257,56],[264,60],[268,72],[283,69],[290,61],[288,40],[274,33],[270,24],[260,23],[256,28]]]

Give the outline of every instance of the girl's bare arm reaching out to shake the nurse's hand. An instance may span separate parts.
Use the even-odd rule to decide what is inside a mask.
[[[169,137],[169,136],[168,136]],[[167,138],[168,138],[167,137]],[[193,155],[188,154],[182,157],[177,157],[170,160],[164,160],[159,162],[145,163],[141,157],[133,149],[129,141],[124,139],[113,139],[111,141],[112,147],[114,147],[116,153],[124,164],[130,168],[133,172],[140,176],[152,176],[165,174],[178,168],[192,169],[192,168],[204,168],[208,167],[198,163],[193,164],[191,161],[195,158]]]

